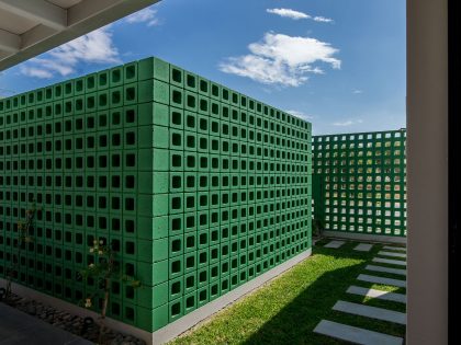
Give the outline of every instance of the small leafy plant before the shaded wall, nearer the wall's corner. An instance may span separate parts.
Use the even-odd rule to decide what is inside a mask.
[[[102,292],[103,302],[100,312],[101,323],[98,341],[99,344],[102,344],[105,331],[103,321],[108,312],[112,283],[122,281],[131,285],[133,288],[138,288],[140,286],[140,281],[135,277],[122,274],[120,266],[115,261],[116,252],[113,250],[112,244],[106,244],[104,240],[98,239],[93,241],[93,245],[90,246],[89,252],[94,255],[94,263],[91,263],[87,268],[81,269],[80,275],[86,280],[89,278],[94,279],[98,289],[94,294],[87,296],[81,303],[85,308],[93,307],[95,297]]]

